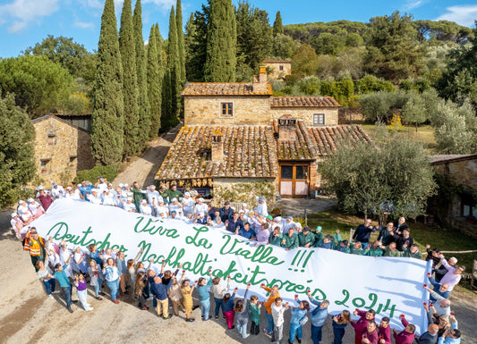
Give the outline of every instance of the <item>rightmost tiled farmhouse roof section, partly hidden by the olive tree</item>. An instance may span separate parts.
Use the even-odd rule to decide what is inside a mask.
[[[348,139],[353,145],[372,140],[361,125],[337,125],[335,127],[308,127],[308,133],[317,149],[317,156],[332,154],[340,141]]]

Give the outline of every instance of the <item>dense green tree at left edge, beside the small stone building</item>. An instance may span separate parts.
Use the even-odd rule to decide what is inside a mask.
[[[35,129],[13,95],[0,97],[0,207],[10,206],[35,176]]]

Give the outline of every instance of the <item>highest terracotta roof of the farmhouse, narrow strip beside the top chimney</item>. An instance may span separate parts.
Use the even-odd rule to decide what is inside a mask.
[[[271,85],[264,92],[254,92],[251,82],[187,82],[183,96],[271,96]]]

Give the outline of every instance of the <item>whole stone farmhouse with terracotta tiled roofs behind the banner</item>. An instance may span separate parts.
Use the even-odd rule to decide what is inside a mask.
[[[338,124],[333,97],[272,96],[265,67],[251,83],[187,83],[182,95],[184,125],[156,175],[166,185],[267,180],[282,197],[308,197],[340,140],[371,142],[361,126]]]

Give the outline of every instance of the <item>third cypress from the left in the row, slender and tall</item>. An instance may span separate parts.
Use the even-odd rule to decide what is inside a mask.
[[[136,73],[138,78],[138,108],[139,108],[139,135],[141,143],[149,138],[150,128],[150,106],[148,97],[148,80],[146,56],[144,51],[144,38],[142,38],[142,9],[141,0],[136,1],[134,14],[132,16],[132,25],[134,27],[134,41],[136,43]]]

